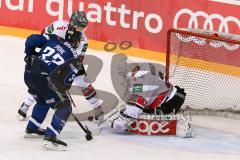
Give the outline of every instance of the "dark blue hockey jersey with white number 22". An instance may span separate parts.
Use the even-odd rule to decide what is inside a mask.
[[[41,49],[36,52],[36,48]],[[56,35],[33,34],[29,36],[25,42],[25,53],[26,57],[38,56],[41,59],[39,65],[41,65],[42,71],[49,75],[69,59],[78,57],[70,43],[59,39]],[[71,83],[77,72],[73,69],[67,73],[65,83]]]

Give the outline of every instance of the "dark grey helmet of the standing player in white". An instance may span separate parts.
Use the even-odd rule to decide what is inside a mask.
[[[78,26],[78,27],[85,28],[87,24],[88,24],[88,19],[84,11],[73,12],[69,21],[70,26]]]

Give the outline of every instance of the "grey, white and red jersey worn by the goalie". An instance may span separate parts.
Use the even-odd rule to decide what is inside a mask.
[[[151,63],[138,64],[138,70],[134,73],[133,71],[129,72],[127,77],[127,90],[131,95],[129,99],[131,101],[131,99],[136,99],[136,96],[142,97],[145,101],[143,104],[139,104],[139,107],[142,108],[153,107],[156,98],[158,104],[155,104],[154,107],[157,107],[156,105],[160,105],[172,91],[171,84],[165,82],[161,70]],[[132,95],[134,96],[132,97]]]

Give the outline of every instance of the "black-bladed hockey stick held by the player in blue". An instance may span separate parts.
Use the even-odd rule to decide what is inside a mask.
[[[73,104],[74,108],[76,108],[76,104],[74,103],[73,99],[72,99],[72,96],[70,95],[69,92],[66,92],[66,94],[68,95],[71,103]],[[88,129],[87,126],[83,126],[82,123],[78,120],[78,118],[76,117],[76,115],[74,113],[71,113],[71,116],[74,118],[74,120],[77,122],[77,124],[82,128],[82,130],[86,133],[86,139],[89,141],[89,140],[92,140],[92,132]]]

